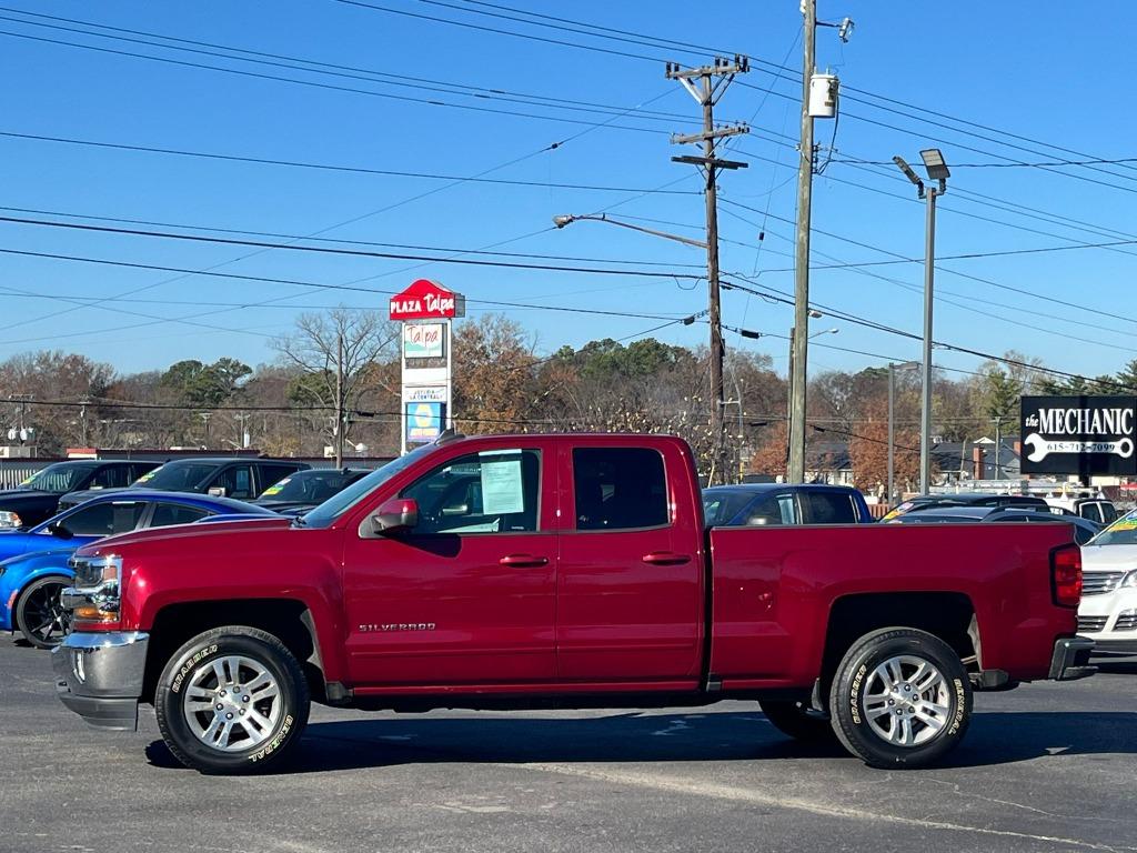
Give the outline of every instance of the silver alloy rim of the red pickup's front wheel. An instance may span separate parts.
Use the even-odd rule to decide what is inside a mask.
[[[185,687],[182,711],[190,731],[206,746],[243,752],[273,734],[283,701],[276,678],[243,655],[200,666]]]

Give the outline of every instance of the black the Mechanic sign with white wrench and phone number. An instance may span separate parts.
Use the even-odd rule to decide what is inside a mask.
[[[1137,397],[1023,397],[1022,473],[1137,474]]]

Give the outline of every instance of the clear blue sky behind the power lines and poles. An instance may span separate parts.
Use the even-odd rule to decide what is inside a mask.
[[[0,94],[0,132],[457,176],[492,169],[487,177],[542,184],[630,189],[670,184],[669,189],[687,190],[690,194],[471,182],[448,187],[434,180],[0,136],[3,174],[0,205],[7,208],[285,235],[323,232],[324,238],[340,240],[447,249],[492,246],[501,251],[632,260],[642,263],[625,266],[702,273],[704,257],[698,249],[591,222],[557,231],[551,227],[550,217],[614,206],[613,216],[699,237],[698,227],[683,229],[699,226],[703,221],[703,200],[697,193],[699,179],[691,167],[670,160],[673,155],[694,151],[669,141],[673,131],[695,130],[698,106],[678,83],[664,77],[663,60],[692,65],[706,61],[709,53],[526,26],[478,15],[478,9],[513,13],[465,0],[374,2],[416,15],[592,44],[615,53],[499,35],[333,0],[272,5],[11,2],[15,5],[0,11],[3,41],[0,63],[6,66],[8,81]],[[786,60],[795,69],[800,67],[797,0],[731,0],[717,6],[709,16],[678,0],[512,2],[515,8],[533,13],[745,52],[774,64]],[[503,3],[509,5],[509,0]],[[1120,66],[1103,72],[1102,63],[1103,57],[1123,57],[1130,50],[1130,36],[1123,26],[1104,31],[1101,26],[1102,20],[1124,20],[1130,11],[1128,5],[940,3],[935,13],[922,13],[920,7],[910,5],[904,7],[907,13],[903,16],[897,15],[898,8],[886,2],[843,6],[835,0],[822,0],[819,9],[822,19],[839,20],[849,15],[856,20],[856,30],[845,45],[833,30],[820,30],[819,66],[836,69],[847,88],[995,130],[969,126],[973,134],[990,138],[980,139],[927,121],[952,124],[949,119],[887,103],[912,114],[897,115],[881,109],[881,101],[846,89],[845,113],[836,127],[835,162],[814,185],[814,226],[835,235],[815,233],[815,265],[895,258],[886,252],[918,257],[923,250],[923,210],[915,201],[913,188],[899,173],[891,166],[840,160],[888,162],[899,154],[918,163],[920,149],[929,146],[941,148],[949,164],[997,163],[1001,156],[1030,163],[1061,157],[1080,159],[1007,136],[1006,132],[1097,158],[1135,154],[1129,143],[1134,119],[1127,78]],[[86,27],[31,18],[13,9],[368,72],[507,90],[526,96],[526,100],[529,96],[541,96],[575,106],[587,101],[624,109],[644,105],[644,109],[667,115],[645,118],[557,110],[424,91],[409,88],[407,81],[382,84],[366,74],[357,76],[367,80],[329,77],[45,28],[27,22]],[[924,14],[935,14],[938,19],[921,19]],[[77,49],[11,34],[224,66],[251,74],[289,76],[323,86],[606,124],[596,127],[432,106]],[[659,61],[621,56],[621,51]],[[796,155],[786,144],[786,136],[797,134],[795,101],[799,85],[757,69],[738,82],[747,85],[736,83],[721,101],[717,117],[750,123],[750,134],[731,146],[735,155],[748,159],[750,166],[724,175],[720,182],[722,235],[729,241],[722,246],[722,266],[728,273],[756,279],[764,287],[790,291]],[[819,122],[816,141],[828,146],[833,132],[832,122]],[[554,142],[563,144],[546,150]],[[1059,172],[1103,183],[1076,180]],[[1131,215],[1135,179],[1137,171],[1131,165],[1053,171],[956,168],[941,202],[938,254],[998,252],[1134,239],[1129,234],[1137,232]],[[412,200],[430,190],[437,191]],[[1023,206],[1044,212],[1045,217],[1029,212],[1024,215]],[[0,215],[30,214],[0,210]],[[39,218],[91,222],[57,215],[39,215]],[[351,224],[333,227],[346,222]],[[760,232],[765,234],[761,243]],[[703,281],[441,264],[418,266],[407,260],[285,250],[252,254],[255,249],[241,247],[13,223],[0,223],[0,248],[186,270],[214,267],[215,272],[327,284],[356,282],[354,287],[377,291],[399,290],[415,278],[426,276],[464,292],[471,300],[472,314],[493,309],[488,301],[503,300],[652,315],[504,309],[524,324],[542,353],[564,343],[579,346],[592,338],[634,336],[662,322],[653,317],[678,317],[706,305]],[[1137,324],[1129,318],[1134,315],[1130,307],[1135,292],[1130,283],[1134,254],[1137,248],[1121,246],[945,260],[945,271],[986,281],[938,273],[936,338],[984,351],[1018,349],[1067,371],[1113,372],[1137,357],[1134,342]],[[239,259],[247,255],[251,256]],[[921,266],[897,264],[868,270],[895,281],[850,270],[819,270],[813,274],[813,299],[919,332]],[[181,358],[211,361],[223,355],[257,364],[273,358],[271,340],[285,333],[296,313],[305,307],[342,303],[383,309],[387,304],[382,292],[319,291],[217,276],[169,281],[174,278],[152,270],[0,254],[0,298],[5,306],[0,316],[0,358],[28,349],[60,348],[110,362],[124,372],[160,367]],[[108,300],[98,307],[78,307],[74,301],[59,300],[59,297],[81,301],[113,299],[136,289],[133,300]],[[1047,297],[1089,310],[1047,301]],[[273,306],[264,305],[268,300],[276,301]],[[233,307],[252,304],[260,305]],[[198,325],[163,322],[175,317],[192,317],[190,323]],[[727,292],[723,320],[729,325],[785,336],[792,314],[782,304]],[[898,359],[919,357],[919,342],[914,340],[829,317],[813,323],[812,331],[840,329],[837,336],[816,340],[818,345],[831,343]],[[675,343],[696,345],[705,340],[706,325],[672,325],[656,336]],[[785,370],[785,340],[742,340],[730,336],[728,345],[769,353],[775,358],[775,367]],[[979,362],[955,353],[937,355],[938,364],[963,370],[973,368]],[[821,347],[811,350],[811,371],[856,370],[878,364],[880,358],[853,353]]]

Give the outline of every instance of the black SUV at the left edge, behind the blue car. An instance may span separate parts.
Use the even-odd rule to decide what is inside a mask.
[[[65,495],[82,490],[91,497],[105,489],[121,489],[156,467],[157,462],[138,459],[75,459],[48,465],[18,488],[0,490],[0,529],[39,524],[61,508]]]

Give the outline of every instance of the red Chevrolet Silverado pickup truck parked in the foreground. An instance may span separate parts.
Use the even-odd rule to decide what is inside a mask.
[[[799,738],[921,767],[972,689],[1088,676],[1080,553],[1055,524],[704,528],[658,436],[448,436],[298,520],[77,552],[63,702],[152,703],[206,772],[277,764],[312,699],[364,709],[756,699]]]

